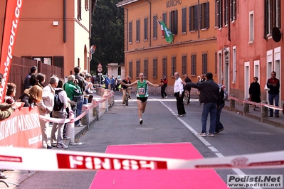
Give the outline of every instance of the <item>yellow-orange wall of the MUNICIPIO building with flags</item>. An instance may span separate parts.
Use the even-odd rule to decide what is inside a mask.
[[[207,71],[214,74],[214,80],[217,79],[216,73],[216,28],[215,25],[215,1],[209,0],[209,28],[189,32],[189,6],[198,3],[197,0],[179,0],[180,4],[167,8],[167,0],[150,0],[151,15],[149,3],[147,1],[137,1],[125,5],[125,75],[129,75],[129,63],[132,62],[132,82],[136,77],[136,60],[140,60],[140,72],[144,71],[144,60],[148,60],[148,77],[150,82],[159,83],[162,77],[162,58],[167,56],[167,78],[169,85],[174,85],[172,75],[172,56],[175,56],[176,72],[182,73],[182,56],[186,55],[186,73],[193,82],[197,81],[197,76],[202,74],[202,54],[207,53]],[[199,1],[203,4],[208,1]],[[182,9],[186,8],[186,33],[182,33]],[[167,13],[167,27],[169,28],[169,13],[177,10],[178,33],[175,35],[174,43],[167,43],[162,38],[162,31],[157,23],[157,38],[153,39],[153,16],[162,20],[162,14]],[[144,18],[148,18],[148,28],[151,29],[151,37],[143,41],[144,38]],[[149,20],[151,19],[151,26]],[[140,20],[140,42],[136,42],[136,21]],[[132,43],[128,43],[127,26],[132,22]],[[191,75],[191,55],[196,55],[196,75]],[[157,58],[157,77],[152,77],[152,60]],[[181,75],[184,79],[183,75]],[[217,80],[216,80],[217,82]]]

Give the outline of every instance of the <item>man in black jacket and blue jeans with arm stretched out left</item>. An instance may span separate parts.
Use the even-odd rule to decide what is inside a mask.
[[[200,103],[204,103],[201,124],[202,131],[198,136],[214,136],[216,126],[216,109],[220,105],[219,86],[213,80],[213,74],[211,72],[206,73],[206,81],[204,82],[183,82],[184,89],[194,87],[200,91]],[[210,113],[210,128],[209,133],[206,135],[206,123],[207,117]]]

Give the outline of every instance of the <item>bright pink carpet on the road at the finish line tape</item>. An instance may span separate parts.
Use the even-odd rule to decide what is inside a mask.
[[[108,146],[106,153],[161,158],[196,159],[203,158],[190,143],[181,144],[141,144]],[[91,189],[95,188],[227,188],[214,171],[98,171]]]

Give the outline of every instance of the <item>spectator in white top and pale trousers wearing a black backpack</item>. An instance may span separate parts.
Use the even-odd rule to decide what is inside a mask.
[[[66,108],[68,107],[68,97],[67,93],[62,88],[63,84],[64,80],[59,79],[54,95],[53,117],[58,119],[66,119],[67,117]],[[51,129],[51,146],[57,146],[57,148],[68,148],[68,146],[63,143],[63,126],[64,123],[53,122]]]

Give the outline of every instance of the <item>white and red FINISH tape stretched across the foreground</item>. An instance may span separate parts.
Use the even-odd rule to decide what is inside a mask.
[[[43,163],[48,162],[48,163]],[[2,169],[30,171],[283,168],[284,151],[185,160],[114,153],[0,147]]]

